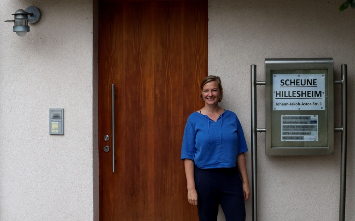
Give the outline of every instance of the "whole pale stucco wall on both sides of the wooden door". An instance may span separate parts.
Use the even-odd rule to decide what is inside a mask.
[[[98,220],[96,2],[0,1],[1,221]],[[210,0],[209,74],[221,76],[221,105],[238,114],[250,146],[251,64],[257,65],[258,80],[265,80],[265,58],[332,57],[335,79],[340,65],[348,64],[350,221],[355,219],[355,10],[338,13],[342,2]],[[42,19],[18,37],[3,21],[28,6],[40,8]],[[335,91],[339,127],[339,85]],[[258,127],[265,127],[264,105],[259,86]],[[49,108],[64,108],[65,135],[48,134]],[[258,134],[259,221],[338,220],[339,177],[339,133],[334,156],[308,157],[266,156],[265,136]],[[252,201],[246,206],[249,221]]]

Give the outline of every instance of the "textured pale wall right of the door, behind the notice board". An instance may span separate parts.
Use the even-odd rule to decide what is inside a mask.
[[[221,76],[221,106],[233,110],[250,132],[250,65],[263,81],[265,58],[332,57],[335,80],[348,64],[348,167],[346,219],[355,220],[354,71],[355,10],[344,0],[210,0],[209,74]],[[340,127],[340,85],[335,85],[335,126]],[[258,127],[265,127],[264,86],[258,86]],[[340,133],[333,156],[266,156],[258,134],[259,221],[335,221],[339,214]],[[247,154],[251,182],[251,153]],[[252,200],[246,203],[252,218]],[[219,221],[223,221],[221,213]]]

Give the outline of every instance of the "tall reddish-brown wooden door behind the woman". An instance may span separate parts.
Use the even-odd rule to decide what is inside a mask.
[[[100,2],[101,221],[198,220],[180,152],[187,117],[203,106],[207,11],[206,0]]]

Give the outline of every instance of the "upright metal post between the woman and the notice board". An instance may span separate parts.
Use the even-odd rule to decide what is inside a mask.
[[[253,221],[258,221],[258,189],[257,189],[257,66],[250,66],[251,74],[251,134],[252,134],[252,213]]]

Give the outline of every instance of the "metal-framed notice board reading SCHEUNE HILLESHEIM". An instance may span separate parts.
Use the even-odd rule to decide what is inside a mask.
[[[265,59],[266,155],[334,153],[333,59]]]

